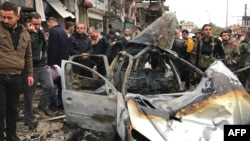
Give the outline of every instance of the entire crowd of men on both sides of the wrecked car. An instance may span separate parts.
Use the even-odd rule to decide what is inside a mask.
[[[27,23],[20,24],[18,8],[9,1],[1,5],[0,12],[0,141],[19,140],[16,121],[21,89],[24,93],[24,122],[30,129],[34,129],[37,121],[32,112],[32,100],[38,82],[43,90],[38,108],[48,116],[53,116],[49,104],[63,108],[61,79],[53,80],[51,70],[60,67],[62,60],[80,55],[80,58],[73,61],[96,67],[105,76],[103,60],[89,55],[106,55],[111,63],[119,51],[126,50],[128,42],[133,38],[130,29],[125,29],[124,36],[120,37],[112,30],[105,36],[94,27],[85,27],[83,23],[66,22],[63,28],[54,17],[46,21],[48,31],[42,31],[41,16],[37,12],[29,13]],[[141,31],[137,27],[136,35]],[[180,39],[180,32],[183,39]],[[212,26],[205,24],[191,39],[188,30],[176,30],[172,49],[201,70],[206,70],[215,60],[222,60],[229,69],[239,72],[237,75],[240,81],[250,93],[250,71],[244,69],[250,66],[250,32],[242,34],[241,39],[239,34],[234,37],[231,33],[231,30],[226,30],[221,32],[220,38],[214,37]],[[186,89],[189,89],[190,72],[186,68],[180,70],[183,70],[182,79]],[[91,75],[77,68],[74,71]]]

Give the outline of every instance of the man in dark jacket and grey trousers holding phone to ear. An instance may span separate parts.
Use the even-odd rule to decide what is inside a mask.
[[[34,83],[37,84],[39,82],[42,85],[38,108],[46,115],[52,116],[53,114],[48,107],[48,103],[50,102],[50,95],[54,90],[54,84],[46,64],[46,41],[43,32],[40,30],[41,23],[42,19],[39,13],[29,13],[27,29],[31,38]],[[23,76],[26,76],[26,73],[23,73]],[[26,82],[26,79],[23,79],[23,81]],[[24,84],[24,123],[30,129],[34,129],[37,126],[37,121],[35,121],[33,115],[32,101],[36,85],[28,86],[27,83]]]

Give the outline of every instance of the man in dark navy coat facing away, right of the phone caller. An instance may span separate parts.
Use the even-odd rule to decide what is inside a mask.
[[[56,18],[49,17],[47,25],[50,29],[48,39],[48,65],[52,69],[56,69],[55,65],[61,66],[62,60],[69,59],[69,39],[65,30],[58,25]],[[58,88],[58,104],[60,108],[63,108],[61,78],[55,81]]]

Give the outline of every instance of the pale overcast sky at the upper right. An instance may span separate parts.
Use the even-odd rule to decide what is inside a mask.
[[[247,4],[247,15],[250,16],[250,0],[166,0],[170,11],[176,12],[179,21],[192,21],[199,27],[209,20],[221,27],[226,26],[226,9],[228,1],[228,25],[241,24]]]

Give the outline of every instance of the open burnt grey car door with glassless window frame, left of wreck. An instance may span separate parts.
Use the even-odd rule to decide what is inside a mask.
[[[115,131],[117,90],[104,76],[93,68],[63,61],[62,85],[68,123],[95,131]]]

